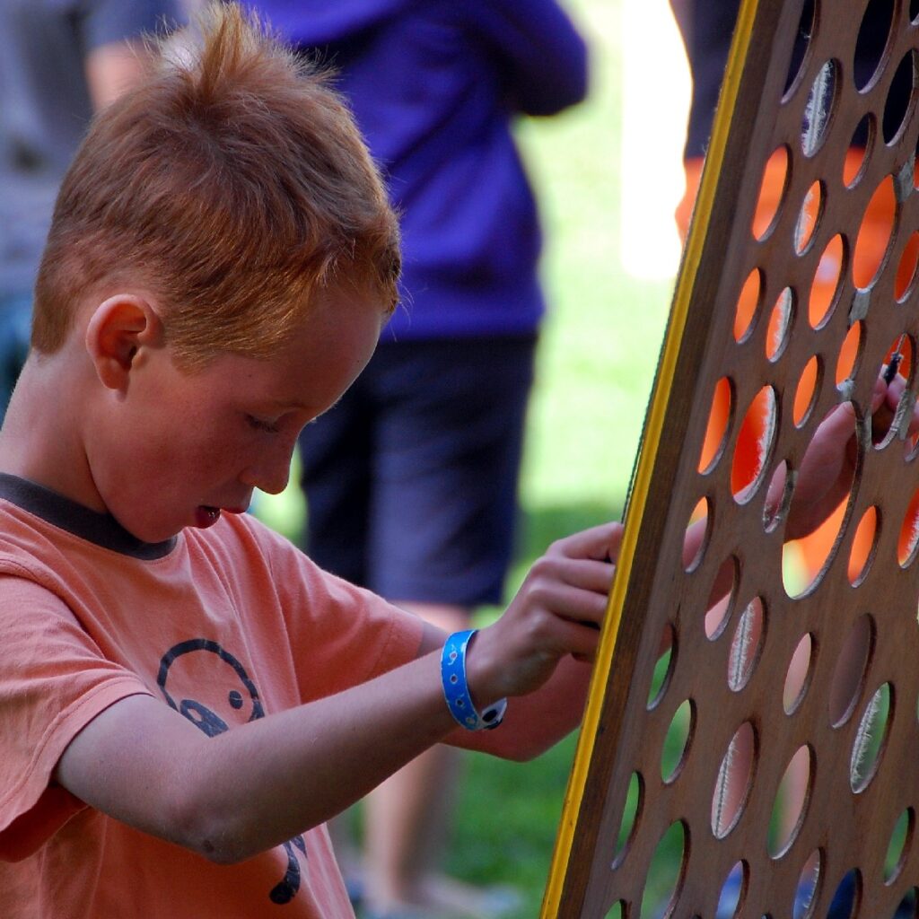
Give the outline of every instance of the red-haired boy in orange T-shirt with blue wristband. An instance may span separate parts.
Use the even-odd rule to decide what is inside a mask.
[[[243,513],[398,271],[346,109],[238,9],[96,119],[0,432],[5,919],[350,916],[325,820],[433,743],[576,725],[617,527],[445,645]]]

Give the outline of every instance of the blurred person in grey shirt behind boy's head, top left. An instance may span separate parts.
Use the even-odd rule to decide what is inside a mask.
[[[175,0],[0,0],[0,422],[28,351],[58,185],[93,111],[140,74]]]

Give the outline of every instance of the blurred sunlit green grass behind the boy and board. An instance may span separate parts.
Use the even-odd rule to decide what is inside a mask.
[[[592,95],[570,113],[519,130],[546,230],[550,314],[509,592],[552,539],[620,516],[672,292],[671,281],[637,281],[618,263],[619,2],[569,6],[592,44]],[[296,535],[300,496],[291,488],[265,499],[259,514]],[[519,919],[539,913],[574,743],[568,738],[525,765],[466,758],[446,867],[476,883],[516,885],[526,897]]]

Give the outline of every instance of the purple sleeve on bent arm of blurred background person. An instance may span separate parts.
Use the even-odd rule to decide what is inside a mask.
[[[472,27],[495,49],[510,102],[526,115],[554,115],[587,94],[587,46],[554,0],[475,0]]]

